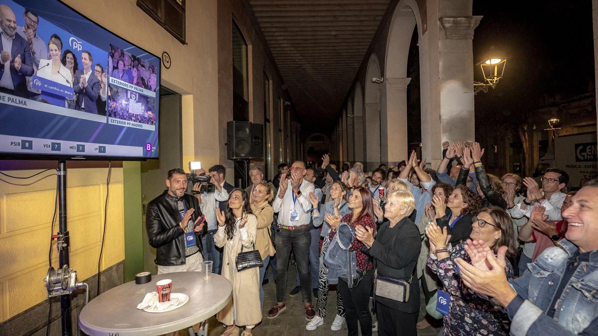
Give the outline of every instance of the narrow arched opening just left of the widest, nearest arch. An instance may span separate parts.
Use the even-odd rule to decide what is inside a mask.
[[[373,170],[382,162],[380,139],[380,91],[382,76],[376,54],[370,56],[365,75],[365,170]]]

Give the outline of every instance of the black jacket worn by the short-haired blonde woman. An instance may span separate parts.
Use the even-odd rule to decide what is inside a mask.
[[[409,286],[409,300],[406,303],[381,297],[376,297],[376,301],[404,313],[415,313],[419,310],[419,282],[415,267],[421,248],[419,230],[411,219],[403,218],[393,228],[390,228],[388,221],[380,225],[376,240],[367,250],[376,262],[378,275],[409,280],[413,274],[413,280]]]

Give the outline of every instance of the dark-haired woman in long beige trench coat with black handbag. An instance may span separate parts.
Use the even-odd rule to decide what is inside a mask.
[[[260,270],[257,267],[237,272],[236,257],[243,251],[254,248],[257,232],[257,219],[251,213],[249,197],[245,191],[235,189],[228,198],[228,209],[216,209],[218,231],[214,243],[224,248],[222,256],[222,276],[233,283],[233,300],[216,314],[216,319],[226,325],[224,336],[238,336],[239,327],[245,326],[243,336],[251,336],[251,331],[262,319],[260,308]]]

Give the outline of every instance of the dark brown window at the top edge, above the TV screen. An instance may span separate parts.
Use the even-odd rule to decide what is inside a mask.
[[[185,0],[137,0],[137,5],[182,44],[187,44]]]

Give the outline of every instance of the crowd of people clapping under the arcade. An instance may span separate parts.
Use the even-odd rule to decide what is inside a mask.
[[[348,335],[417,335],[430,325],[441,335],[598,335],[598,180],[571,191],[560,168],[539,181],[499,178],[483,155],[479,143],[443,143],[435,170],[411,152],[372,172],[359,162],[337,169],[324,155],[317,167],[280,164],[273,182],[252,167],[245,190],[216,165],[209,174],[218,191],[195,196],[185,193],[184,171],[172,170],[147,218],[158,272],[193,270],[185,258],[196,254],[212,260],[233,283],[233,299],[216,316],[225,336],[251,335],[263,317],[285,311],[289,270],[307,330],[329,318],[335,289],[330,328],[346,325]],[[180,216],[164,222],[166,204]],[[208,224],[194,227],[201,213]],[[171,246],[184,246],[190,231],[202,242],[197,251]],[[253,248],[262,267],[237,270],[238,253]],[[270,267],[276,303],[262,316]],[[420,294],[427,314],[418,322]]]

